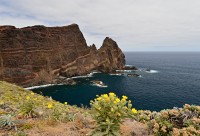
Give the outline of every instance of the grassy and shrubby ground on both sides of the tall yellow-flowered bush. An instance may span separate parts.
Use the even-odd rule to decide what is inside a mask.
[[[90,109],[62,104],[0,81],[0,116],[6,114],[15,114],[12,119],[23,123],[17,124],[17,131],[0,127],[0,136],[85,136],[96,127]],[[200,106],[186,104],[160,112],[140,110],[134,118],[125,119],[120,130],[123,136],[200,136]]]

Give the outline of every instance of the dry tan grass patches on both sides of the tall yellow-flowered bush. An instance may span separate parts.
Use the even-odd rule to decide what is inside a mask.
[[[87,136],[95,127],[93,120],[83,117],[78,117],[74,122],[67,123],[29,120],[29,125],[32,128],[23,131],[28,136]],[[125,120],[121,125],[121,133],[122,136],[149,136],[145,124],[130,119]],[[0,131],[0,136],[10,136],[12,134],[16,134],[16,132]]]

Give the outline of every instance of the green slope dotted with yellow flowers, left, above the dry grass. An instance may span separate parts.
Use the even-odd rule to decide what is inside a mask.
[[[0,128],[2,129],[23,128],[31,119],[49,123],[68,122],[74,120],[74,115],[80,112],[83,111],[67,105],[67,102],[62,104],[49,97],[0,81]],[[23,123],[18,125],[17,122]]]

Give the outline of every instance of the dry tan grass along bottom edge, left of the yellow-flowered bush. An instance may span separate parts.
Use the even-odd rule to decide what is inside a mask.
[[[90,117],[81,114],[77,116],[74,122],[55,122],[52,120],[29,119],[25,127],[18,129],[28,136],[86,136],[89,135],[95,127],[94,121]],[[14,130],[2,130],[0,136],[14,135],[18,132]]]

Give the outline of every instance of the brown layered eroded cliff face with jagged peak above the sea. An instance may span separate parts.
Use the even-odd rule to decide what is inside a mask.
[[[30,86],[57,76],[85,75],[92,70],[123,69],[125,56],[105,38],[100,49],[87,46],[78,25],[63,27],[0,26],[0,80]]]

